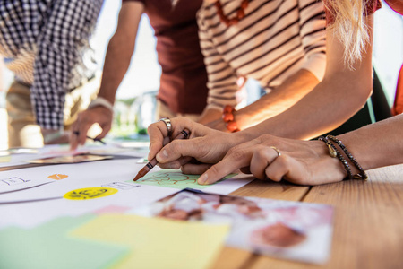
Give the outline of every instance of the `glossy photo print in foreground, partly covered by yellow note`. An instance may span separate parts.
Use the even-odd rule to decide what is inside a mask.
[[[183,190],[134,214],[229,224],[226,245],[268,256],[322,263],[330,251],[333,208],[326,204]]]

